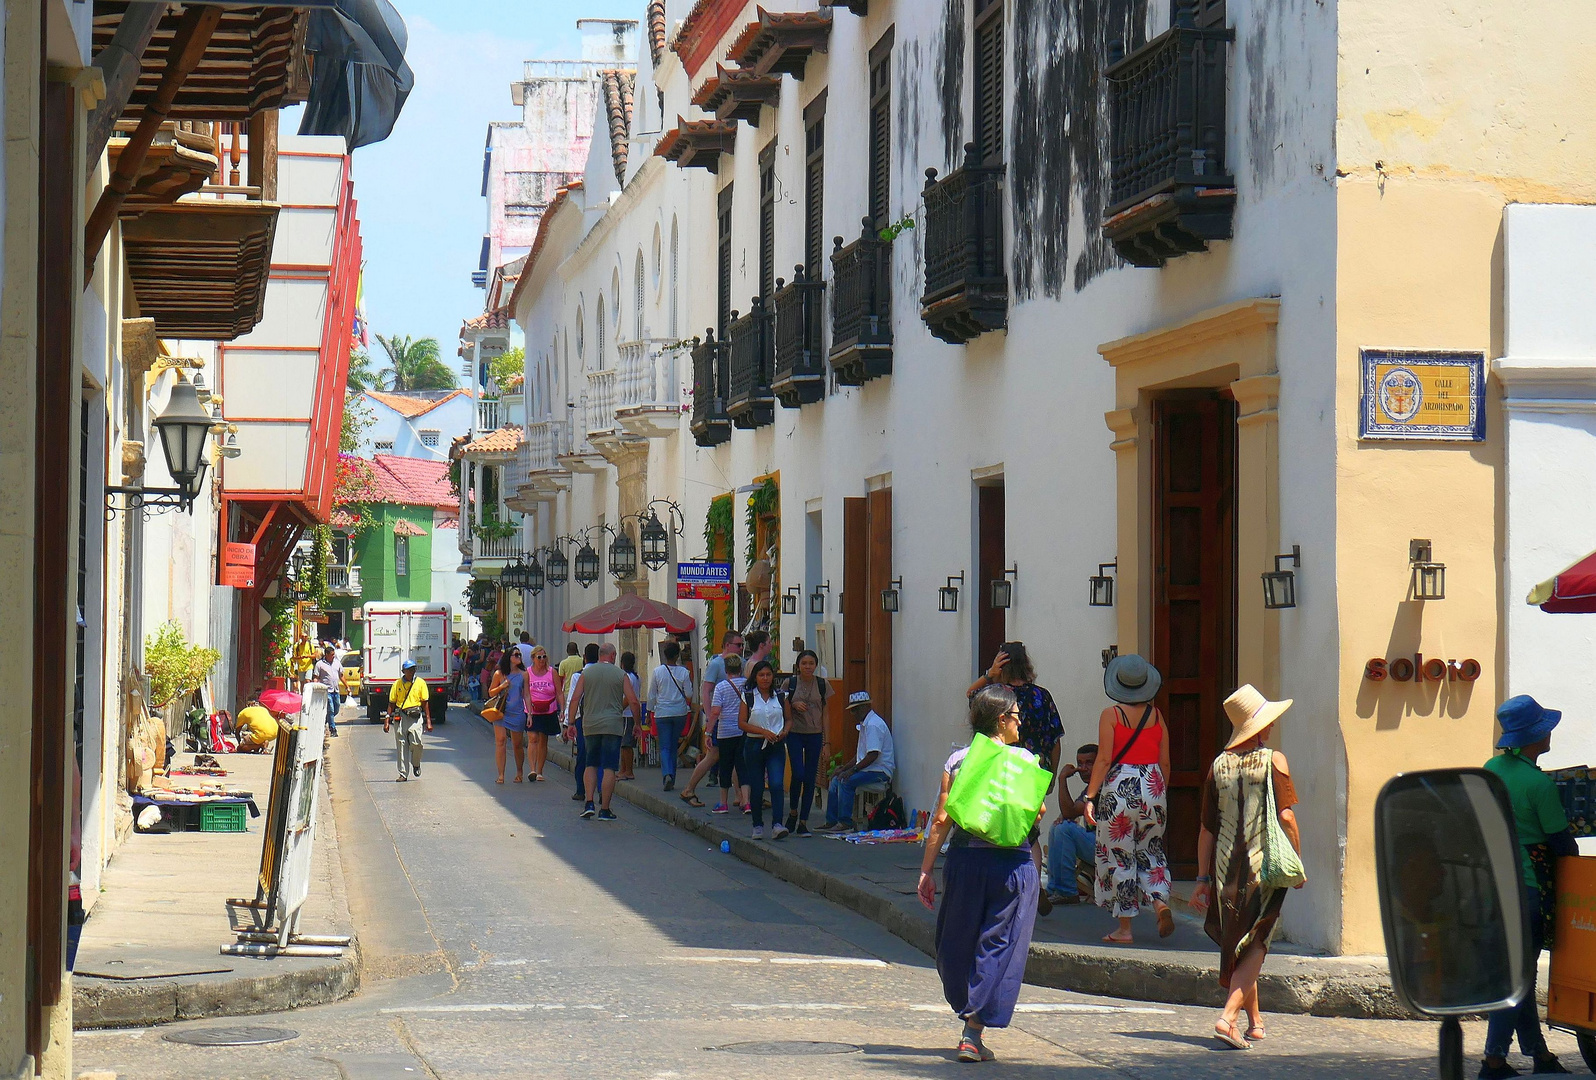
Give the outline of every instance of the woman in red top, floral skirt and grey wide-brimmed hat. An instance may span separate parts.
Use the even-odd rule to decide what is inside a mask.
[[[1103,750],[1087,782],[1085,817],[1096,828],[1096,903],[1119,919],[1108,944],[1132,943],[1130,920],[1143,905],[1152,906],[1160,938],[1175,933],[1163,853],[1170,740],[1152,704],[1160,683],[1159,668],[1135,654],[1116,657],[1103,673],[1116,704],[1098,719]]]

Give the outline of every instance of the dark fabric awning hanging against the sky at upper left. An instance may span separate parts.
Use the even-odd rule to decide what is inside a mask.
[[[343,136],[350,150],[386,139],[415,75],[409,34],[388,0],[334,0],[310,13],[310,101],[302,136]]]

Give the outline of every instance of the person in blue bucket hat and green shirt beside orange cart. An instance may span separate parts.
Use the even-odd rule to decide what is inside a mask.
[[[1540,1016],[1535,1011],[1535,964],[1550,936],[1556,893],[1551,884],[1551,868],[1559,855],[1578,855],[1578,844],[1569,830],[1569,818],[1558,798],[1558,785],[1535,764],[1540,755],[1551,748],[1551,729],[1562,713],[1547,708],[1529,694],[1510,697],[1497,705],[1497,724],[1502,737],[1486,769],[1497,774],[1513,799],[1513,818],[1518,825],[1518,841],[1523,850],[1524,905],[1529,908],[1529,992],[1515,1008],[1491,1013],[1486,1026],[1486,1056],[1479,1064],[1481,1080],[1516,1077],[1519,1070],[1508,1064],[1507,1051],[1518,1034],[1518,1048],[1534,1059],[1535,1075],[1562,1075],[1558,1056],[1547,1050],[1540,1034]]]

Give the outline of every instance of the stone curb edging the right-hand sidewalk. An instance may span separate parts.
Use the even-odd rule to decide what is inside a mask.
[[[563,745],[549,745],[549,761],[567,772],[571,756]],[[713,845],[729,842],[731,853],[768,874],[841,905],[879,924],[916,949],[935,956],[935,917],[913,897],[860,885],[817,869],[771,844],[752,841],[686,812],[680,799],[666,799],[635,783],[616,785],[616,796]],[[672,806],[675,802],[675,806]],[[1272,1013],[1309,1013],[1350,1019],[1416,1019],[1392,991],[1390,978],[1374,965],[1334,957],[1275,954],[1258,981]],[[1285,968],[1285,970],[1280,970]],[[1025,981],[1077,994],[1124,997],[1173,1005],[1224,1005],[1218,964],[1191,964],[1168,954],[1095,949],[1092,946],[1036,941]]]

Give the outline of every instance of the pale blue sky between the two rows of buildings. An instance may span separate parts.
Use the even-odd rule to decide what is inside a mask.
[[[581,56],[576,19],[640,18],[645,0],[394,0],[410,30],[415,91],[393,136],[354,152],[373,333],[434,337],[453,367],[487,204],[482,144],[516,120],[509,85],[528,59]],[[372,343],[373,359],[381,348]]]

